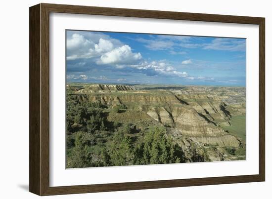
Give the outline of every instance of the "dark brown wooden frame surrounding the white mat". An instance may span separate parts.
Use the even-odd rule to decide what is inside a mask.
[[[49,186],[49,13],[259,25],[259,174],[78,186]],[[30,7],[30,192],[79,194],[265,181],[265,18],[40,3]]]

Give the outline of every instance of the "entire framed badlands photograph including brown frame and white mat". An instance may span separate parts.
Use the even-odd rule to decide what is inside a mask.
[[[265,18],[30,7],[30,192],[265,181]]]

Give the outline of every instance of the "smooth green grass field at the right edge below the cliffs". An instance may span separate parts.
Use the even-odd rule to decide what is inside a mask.
[[[228,130],[230,134],[246,140],[246,117],[233,116],[230,119],[231,126],[222,126],[224,130]]]

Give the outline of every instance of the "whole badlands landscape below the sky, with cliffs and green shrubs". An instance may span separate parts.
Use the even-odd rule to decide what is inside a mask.
[[[66,167],[245,160],[245,87],[66,85]]]

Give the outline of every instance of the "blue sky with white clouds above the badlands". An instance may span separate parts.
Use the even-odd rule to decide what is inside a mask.
[[[245,86],[245,39],[66,32],[67,82]]]

